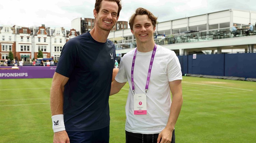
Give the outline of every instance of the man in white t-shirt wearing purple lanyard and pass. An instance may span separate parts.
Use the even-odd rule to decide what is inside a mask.
[[[125,107],[126,143],[175,142],[174,126],[183,103],[181,66],[173,51],[155,44],[156,20],[144,8],[131,16],[129,25],[137,48],[123,56],[111,85],[110,95],[126,82],[130,86]]]

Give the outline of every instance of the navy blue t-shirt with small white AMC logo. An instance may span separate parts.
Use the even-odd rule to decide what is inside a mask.
[[[67,131],[91,131],[109,126],[115,55],[113,42],[97,42],[89,32],[70,39],[63,46],[56,72],[69,77],[63,103]]]

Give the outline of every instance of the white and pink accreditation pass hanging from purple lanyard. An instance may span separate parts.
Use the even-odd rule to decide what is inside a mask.
[[[146,94],[134,94],[134,115],[147,114],[147,99]]]

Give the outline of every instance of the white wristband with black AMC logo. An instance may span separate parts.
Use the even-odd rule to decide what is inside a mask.
[[[52,116],[53,132],[63,131],[65,129],[63,114]]]

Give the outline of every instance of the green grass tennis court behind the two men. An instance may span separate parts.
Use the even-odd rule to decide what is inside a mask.
[[[0,79],[0,143],[53,142],[52,78]],[[183,76],[177,143],[253,143],[256,82]],[[110,96],[110,143],[125,143],[129,85]]]

